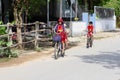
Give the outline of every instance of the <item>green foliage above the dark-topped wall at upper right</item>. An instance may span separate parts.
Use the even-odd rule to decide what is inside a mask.
[[[94,6],[104,6],[106,8],[114,8],[117,17],[120,17],[120,0],[78,0],[79,5],[84,5],[86,2],[87,5],[94,9]],[[89,6],[87,6],[88,8]]]

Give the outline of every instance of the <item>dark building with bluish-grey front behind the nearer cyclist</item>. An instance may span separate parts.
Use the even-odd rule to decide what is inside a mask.
[[[50,0],[50,21],[63,17],[65,20],[82,19],[82,9],[78,5],[78,0]]]

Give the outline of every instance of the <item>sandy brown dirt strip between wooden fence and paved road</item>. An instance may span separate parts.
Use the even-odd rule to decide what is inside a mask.
[[[41,57],[46,57],[51,55],[53,52],[52,48],[46,51],[34,52],[33,54],[21,54],[18,58],[6,58],[4,62],[0,63],[0,67],[10,67],[20,65],[24,62],[35,60]]]

